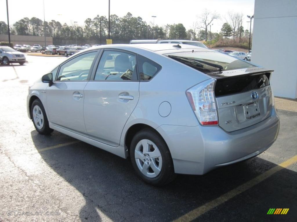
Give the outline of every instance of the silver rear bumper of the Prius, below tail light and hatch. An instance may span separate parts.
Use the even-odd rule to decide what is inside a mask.
[[[279,117],[273,108],[266,120],[230,133],[219,126],[162,125],[157,131],[170,149],[176,173],[202,175],[268,149],[277,139]]]

